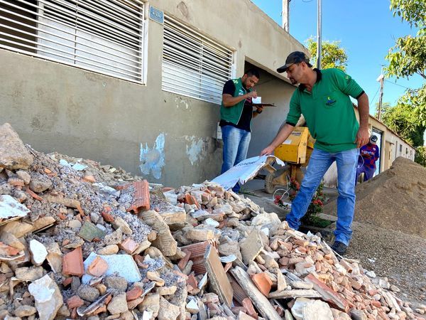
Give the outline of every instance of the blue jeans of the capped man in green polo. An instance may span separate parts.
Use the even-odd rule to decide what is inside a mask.
[[[337,198],[337,227],[334,230],[334,235],[336,241],[349,245],[352,235],[351,224],[354,219],[355,176],[358,155],[359,149],[333,153],[314,149],[300,191],[293,200],[290,213],[285,217],[291,228],[296,230],[299,228],[300,219],[305,215],[322,177],[333,161],[336,161],[339,198]]]

